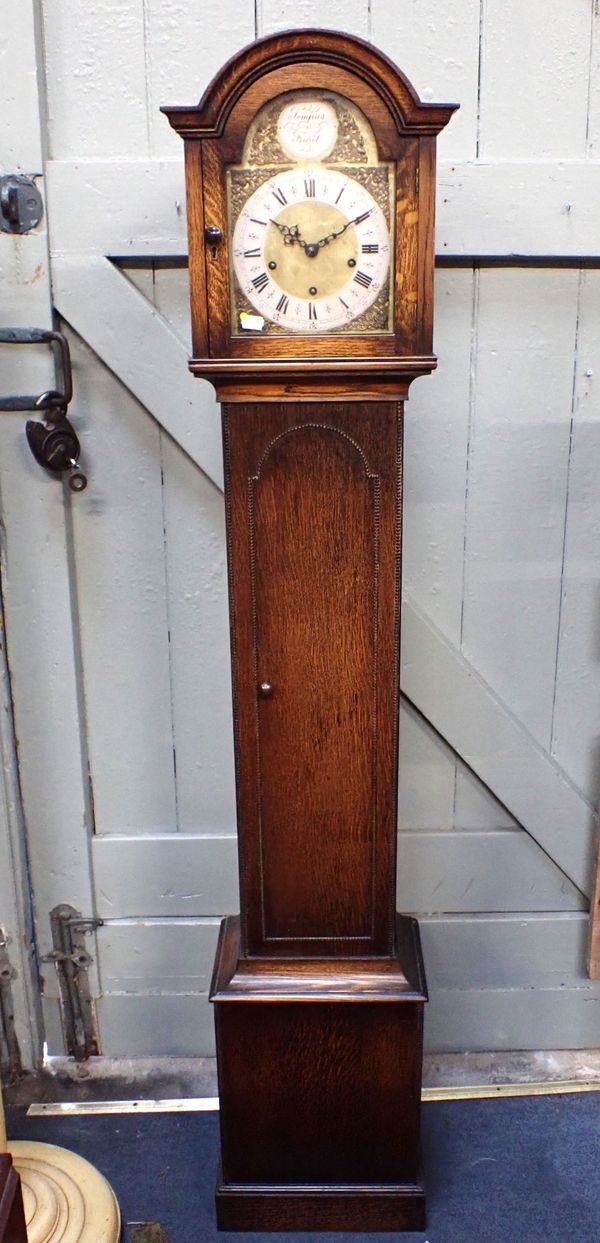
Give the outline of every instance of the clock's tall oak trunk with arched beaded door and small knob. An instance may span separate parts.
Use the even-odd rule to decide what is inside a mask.
[[[400,409],[224,410],[243,948],[386,952]]]

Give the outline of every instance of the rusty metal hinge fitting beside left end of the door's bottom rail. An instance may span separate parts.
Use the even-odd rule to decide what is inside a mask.
[[[84,937],[102,926],[62,902],[50,912],[53,948],[41,961],[53,962],[61,991],[61,1012],[67,1053],[86,1062],[99,1053],[96,1009],[89,994],[88,970],[93,958]]]

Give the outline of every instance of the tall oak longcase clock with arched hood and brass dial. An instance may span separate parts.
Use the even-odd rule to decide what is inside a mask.
[[[435,140],[369,44],[252,44],[185,140],[190,368],[222,403],[241,915],[215,1003],[225,1229],[419,1229],[419,927],[395,912],[401,425]]]

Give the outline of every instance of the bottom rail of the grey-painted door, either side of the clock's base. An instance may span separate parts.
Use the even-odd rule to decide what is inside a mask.
[[[543,1030],[555,1047],[574,1035],[575,1047],[594,1047],[600,988],[583,975],[584,912],[421,916],[420,924],[431,1052],[455,1049],[457,1042],[465,1050],[539,1048]],[[215,932],[207,920],[163,929],[152,920],[122,921],[101,930],[107,976],[99,1009],[114,1055],[127,1057],[135,1044],[149,1057],[165,1047],[190,1057],[200,1042],[214,1052],[206,994],[186,991],[184,979],[175,992],[169,962],[194,963],[188,984],[201,984],[211,971]],[[143,952],[145,940],[152,952]]]

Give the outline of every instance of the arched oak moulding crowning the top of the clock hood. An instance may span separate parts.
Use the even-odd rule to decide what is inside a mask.
[[[291,40],[296,46],[291,46]],[[380,96],[398,133],[435,135],[447,126],[457,103],[424,103],[409,78],[364,39],[330,30],[294,30],[268,35],[231,57],[195,107],[164,106],[160,111],[184,138],[219,138],[237,99],[265,73],[297,62],[335,65],[360,77]]]

